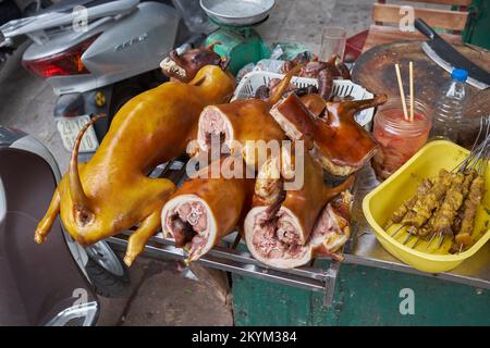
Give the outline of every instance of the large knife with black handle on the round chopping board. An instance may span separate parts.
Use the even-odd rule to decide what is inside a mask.
[[[467,83],[476,88],[490,87],[490,73],[482,70],[444,41],[426,22],[415,20],[415,27],[429,38],[420,45],[422,51],[439,66],[451,73],[454,69],[468,72]]]

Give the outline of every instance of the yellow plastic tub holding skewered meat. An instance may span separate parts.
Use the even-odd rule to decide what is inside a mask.
[[[391,175],[385,182],[369,192],[363,201],[364,214],[375,231],[379,243],[395,258],[429,273],[446,272],[456,268],[467,258],[477,252],[490,238],[490,171],[485,173],[486,194],[482,203],[478,208],[474,229],[474,238],[477,240],[471,248],[458,254],[449,253],[450,238],[444,238],[441,248],[437,240],[432,240],[427,249],[427,241],[420,240],[415,249],[411,246],[416,238],[412,237],[406,245],[403,240],[407,237],[405,231],[399,232],[394,237],[390,234],[400,225],[391,226],[384,231],[384,226],[391,214],[404,200],[415,195],[418,184],[424,178],[437,176],[441,169],[451,171],[469,151],[445,140],[437,140],[427,144],[408,162]],[[406,229],[406,228],[405,228]]]

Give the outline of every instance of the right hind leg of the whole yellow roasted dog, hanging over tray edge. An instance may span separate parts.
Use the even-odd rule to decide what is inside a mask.
[[[161,209],[155,211],[145,220],[143,220],[138,229],[136,229],[130,237],[127,244],[126,256],[124,257],[124,263],[131,266],[134,259],[145,249],[145,245],[148,239],[154,236],[161,225]]]

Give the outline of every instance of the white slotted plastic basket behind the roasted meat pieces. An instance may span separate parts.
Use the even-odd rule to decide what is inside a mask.
[[[255,92],[260,86],[268,85],[272,78],[283,78],[283,74],[269,73],[269,72],[250,72],[246,74],[240,82],[238,86],[235,89],[232,101],[235,99],[246,99],[254,98]],[[316,78],[306,78],[306,77],[297,77],[293,76],[292,84],[297,86],[298,88],[316,86],[318,87],[318,80]],[[367,91],[359,85],[354,84],[350,79],[334,79],[332,96],[336,97],[352,97],[353,100],[364,100],[373,98],[373,95]],[[375,108],[366,109],[358,112],[355,115],[355,120],[362,126],[368,125],[372,121],[372,115],[375,113]]]

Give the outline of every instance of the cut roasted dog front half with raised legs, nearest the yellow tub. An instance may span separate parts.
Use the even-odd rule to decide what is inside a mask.
[[[331,214],[336,210],[323,208],[334,196],[347,189],[353,178],[336,187],[328,187],[323,183],[321,166],[305,153],[303,187],[284,191],[283,178],[277,178],[277,171],[282,172],[281,166],[266,163],[261,167],[269,173],[259,173],[255,207],[245,219],[244,231],[248,250],[257,260],[273,268],[291,269],[307,263],[317,250],[333,254],[340,248],[342,243],[339,241],[342,241],[345,229],[334,225],[336,217]],[[345,219],[343,227],[348,227],[348,216],[343,214],[343,210],[338,215]],[[332,231],[332,226],[342,231]]]

